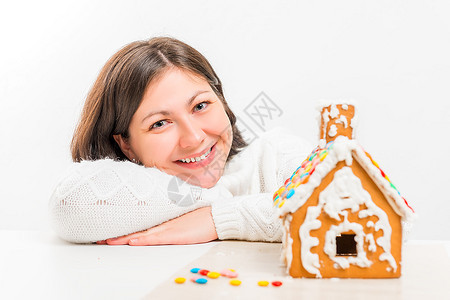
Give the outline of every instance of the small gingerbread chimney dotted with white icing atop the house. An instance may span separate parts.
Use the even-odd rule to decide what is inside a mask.
[[[353,139],[355,107],[351,104],[331,104],[322,106],[320,139],[326,143],[343,135]]]

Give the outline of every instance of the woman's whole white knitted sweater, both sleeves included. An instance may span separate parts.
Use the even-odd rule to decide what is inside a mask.
[[[219,239],[281,241],[272,196],[311,150],[305,140],[271,130],[233,157],[210,189],[128,161],[74,163],[50,198],[51,226],[64,240],[92,243],[211,206]]]

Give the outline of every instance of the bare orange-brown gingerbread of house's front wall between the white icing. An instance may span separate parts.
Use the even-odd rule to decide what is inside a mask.
[[[319,203],[319,194],[332,182],[334,178],[334,174],[345,167],[345,162],[339,162],[335,169],[333,169],[329,174],[325,176],[322,180],[321,184],[314,190],[311,197],[307,200],[307,202],[298,209],[293,214],[293,219],[290,225],[290,234],[293,239],[292,244],[292,263],[290,269],[290,275],[293,277],[315,277],[314,274],[308,273],[302,265],[301,262],[301,241],[299,239],[299,229],[302,225],[307,208],[310,206],[317,206]],[[367,258],[373,262],[373,264],[368,268],[362,268],[355,265],[350,265],[347,269],[336,269],[334,267],[335,262],[332,261],[328,255],[324,252],[324,240],[325,234],[329,230],[332,225],[338,225],[338,222],[335,219],[330,218],[326,213],[322,211],[319,216],[319,220],[321,222],[321,227],[317,230],[311,231],[311,236],[317,237],[319,239],[319,245],[311,248],[311,252],[317,253],[319,255],[320,261],[320,273],[323,278],[331,278],[331,277],[348,277],[348,278],[389,278],[389,277],[399,277],[401,274],[401,246],[402,246],[402,226],[401,226],[401,217],[394,211],[388,201],[384,198],[384,195],[380,191],[380,189],[376,186],[376,184],[370,179],[365,170],[361,167],[361,165],[354,159],[353,164],[351,165],[351,169],[353,173],[359,177],[361,180],[363,188],[370,194],[372,201],[381,208],[388,216],[389,223],[391,225],[392,234],[391,234],[391,253],[394,257],[397,270],[396,272],[387,271],[390,265],[387,261],[380,261],[379,256],[384,251],[377,244],[376,252],[371,252],[368,250],[367,242],[364,243],[364,251],[366,252]],[[360,207],[360,209],[364,209],[364,207]],[[372,233],[374,236],[374,240],[383,235],[382,230],[375,231],[373,227],[368,228],[365,226],[367,221],[372,220],[373,223],[376,223],[378,217],[371,216],[364,219],[360,219],[358,217],[358,212],[356,213],[348,213],[348,220],[350,222],[357,222],[364,226],[364,232]]]

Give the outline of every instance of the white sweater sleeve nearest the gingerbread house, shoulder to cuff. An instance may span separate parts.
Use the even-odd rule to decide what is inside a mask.
[[[235,162],[234,180],[232,183],[224,181],[235,196],[217,199],[211,204],[219,239],[280,242],[282,222],[273,206],[273,193],[311,149],[306,140],[275,129],[251,145],[247,153],[242,153]],[[236,189],[239,183],[242,183],[241,188]],[[249,187],[251,189],[245,190]],[[250,192],[238,195],[241,191]]]

